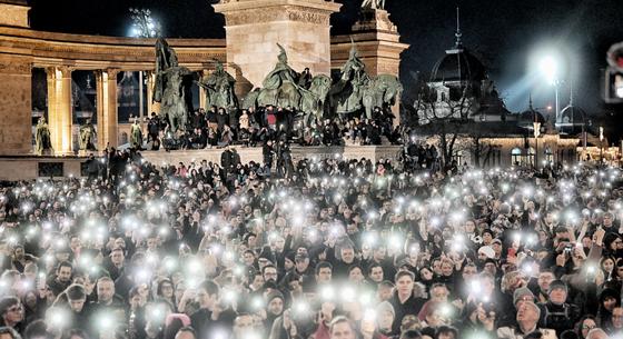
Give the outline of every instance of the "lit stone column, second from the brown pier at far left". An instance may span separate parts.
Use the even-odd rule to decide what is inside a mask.
[[[118,69],[99,70],[96,72],[97,114],[98,114],[98,149],[107,146],[117,147],[117,73]]]

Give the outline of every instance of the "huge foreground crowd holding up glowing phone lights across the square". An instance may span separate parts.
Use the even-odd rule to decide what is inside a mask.
[[[135,152],[89,178],[4,182],[0,336],[623,333],[616,168],[335,157],[275,176],[222,159],[158,167]]]

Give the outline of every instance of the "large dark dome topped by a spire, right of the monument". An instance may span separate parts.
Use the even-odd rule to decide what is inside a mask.
[[[446,50],[431,73],[431,81],[482,81],[486,78],[481,60],[462,46]]]

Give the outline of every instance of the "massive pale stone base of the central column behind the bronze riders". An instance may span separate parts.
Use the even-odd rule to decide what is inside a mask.
[[[224,0],[214,4],[225,16],[227,68],[241,98],[277,62],[280,43],[288,63],[313,74],[330,72],[329,17],[340,3],[326,0]]]

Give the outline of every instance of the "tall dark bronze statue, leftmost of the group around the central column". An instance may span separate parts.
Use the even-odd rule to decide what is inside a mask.
[[[175,50],[159,38],[156,41],[154,101],[160,102],[160,118],[168,119],[174,134],[186,130],[188,114],[192,111],[192,77],[188,68],[178,64]]]

